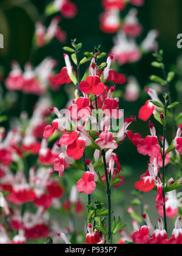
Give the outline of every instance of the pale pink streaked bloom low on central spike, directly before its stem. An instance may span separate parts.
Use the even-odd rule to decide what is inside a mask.
[[[112,132],[101,132],[99,138],[95,141],[101,149],[116,149],[118,144],[115,141]]]

